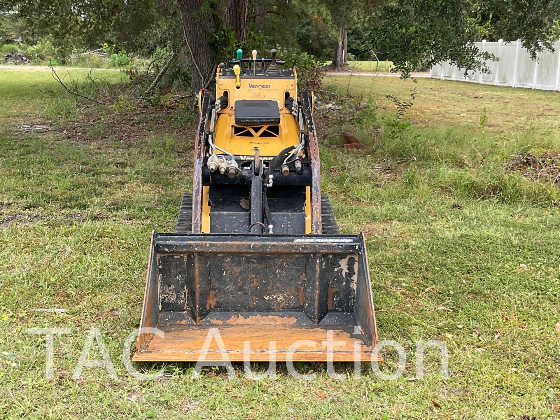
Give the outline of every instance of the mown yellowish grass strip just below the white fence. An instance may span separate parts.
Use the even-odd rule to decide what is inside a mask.
[[[370,97],[382,110],[393,112],[393,102],[385,95],[409,100],[416,89],[414,106],[407,116],[416,125],[430,128],[478,127],[480,116],[488,115],[487,129],[496,134],[516,136],[534,133],[536,137],[560,136],[560,94],[478,83],[451,82],[430,78],[400,80],[398,77],[327,76],[326,83],[347,86]]]

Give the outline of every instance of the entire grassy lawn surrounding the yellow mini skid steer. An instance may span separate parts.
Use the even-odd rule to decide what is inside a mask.
[[[342,231],[366,234],[380,339],[404,347],[403,375],[381,380],[364,366],[360,379],[339,381],[324,364],[295,363],[318,376],[296,380],[279,365],[273,379],[252,381],[236,364],[236,379],[207,368],[194,380],[193,364],[169,363],[136,365],[163,367],[159,380],[130,376],[122,346],[139,322],[150,232],[172,230],[192,185],[192,119],[126,115],[120,105],[82,114],[48,72],[0,68],[0,417],[560,416],[560,193],[505,168],[520,151],[560,151],[560,94],[438,80],[333,82],[372,106],[352,120],[318,118],[323,189]],[[395,122],[384,95],[407,100],[415,87],[414,105]],[[53,119],[48,131],[20,128]],[[327,134],[340,130],[365,147],[332,147]],[[36,311],[47,308],[65,311]],[[118,379],[85,367],[72,380],[91,326]],[[71,329],[54,339],[52,380],[44,338],[26,332],[37,327]],[[442,379],[439,353],[429,349],[415,380],[416,342],[431,339],[446,343],[450,377]],[[380,368],[394,371],[396,352],[384,356]],[[101,358],[95,340],[90,357]]]

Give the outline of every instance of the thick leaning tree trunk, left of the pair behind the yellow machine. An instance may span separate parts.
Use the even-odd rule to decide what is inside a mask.
[[[212,13],[201,11],[206,0],[178,0],[185,34],[186,46],[190,54],[193,88],[206,88],[216,73],[217,63],[214,51],[208,44],[211,34],[217,29]]]

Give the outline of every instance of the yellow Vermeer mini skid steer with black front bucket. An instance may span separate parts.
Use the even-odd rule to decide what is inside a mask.
[[[321,194],[314,96],[270,56],[238,50],[200,92],[193,193],[152,233],[135,361],[379,360],[364,237]]]

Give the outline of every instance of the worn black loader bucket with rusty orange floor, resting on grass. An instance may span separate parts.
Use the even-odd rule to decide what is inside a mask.
[[[363,235],[153,232],[140,326],[135,361],[379,360]]]

